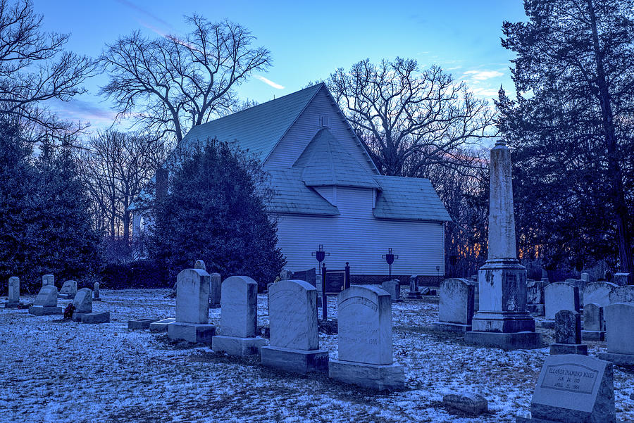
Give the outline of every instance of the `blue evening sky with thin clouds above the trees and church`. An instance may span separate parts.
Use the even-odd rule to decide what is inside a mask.
[[[238,92],[262,103],[323,80],[336,68],[364,58],[378,62],[396,56],[416,58],[424,68],[437,64],[464,80],[475,94],[490,99],[500,84],[514,91],[511,53],[500,46],[502,22],[526,19],[521,0],[418,1],[214,1],[214,0],[33,0],[44,28],[70,32],[68,49],[99,56],[106,43],[142,30],[182,34],[183,15],[227,18],[257,37],[273,54],[273,66]],[[70,104],[53,104],[62,118],[107,127],[115,112],[98,95],[107,77],[86,82],[89,94]],[[283,87],[280,89],[280,87]]]

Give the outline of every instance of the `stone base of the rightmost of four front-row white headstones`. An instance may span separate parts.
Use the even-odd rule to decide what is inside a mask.
[[[346,384],[363,386],[378,391],[399,390],[405,387],[402,365],[371,365],[363,362],[330,360],[328,377]]]

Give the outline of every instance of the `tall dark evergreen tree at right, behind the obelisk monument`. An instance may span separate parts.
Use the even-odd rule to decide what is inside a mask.
[[[524,7],[528,22],[505,22],[502,39],[517,54],[518,100],[501,90],[497,102],[515,148],[519,244],[577,267],[616,245],[632,275],[634,0]]]

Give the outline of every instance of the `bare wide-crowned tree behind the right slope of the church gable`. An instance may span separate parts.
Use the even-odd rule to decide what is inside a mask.
[[[461,162],[459,147],[495,136],[486,101],[437,66],[366,59],[327,84],[384,175],[426,176],[433,165]]]

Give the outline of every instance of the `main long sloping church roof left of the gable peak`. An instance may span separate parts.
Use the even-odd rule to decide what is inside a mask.
[[[241,149],[265,160],[321,87],[323,83],[194,126],[182,144],[190,146],[213,138],[237,141]]]

